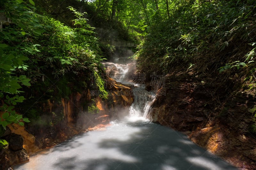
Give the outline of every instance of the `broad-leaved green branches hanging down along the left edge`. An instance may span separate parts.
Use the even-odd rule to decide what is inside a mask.
[[[0,124],[5,129],[11,123],[24,125],[23,122],[30,122],[28,118],[16,114],[13,109],[18,102],[22,103],[24,100],[23,96],[18,96],[22,92],[19,90],[22,88],[21,85],[30,86],[30,79],[22,75],[28,69],[28,65],[25,64],[28,57],[24,56],[24,52],[37,51],[35,46],[27,44],[24,39],[27,36],[38,36],[44,29],[39,24],[40,15],[33,11],[35,7],[32,0],[28,3],[21,0],[4,0],[3,4],[6,16],[15,24],[0,32],[0,98],[4,99],[0,107],[3,112]]]

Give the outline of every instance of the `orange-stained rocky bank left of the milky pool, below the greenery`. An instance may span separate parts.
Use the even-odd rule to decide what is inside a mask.
[[[14,164],[26,162],[29,160],[29,155],[51,148],[77,134],[104,129],[109,125],[109,120],[118,115],[118,110],[129,110],[133,98],[123,93],[130,94],[131,89],[106,75],[105,82],[109,92],[108,99],[102,99],[96,93],[92,93],[97,89],[85,88],[82,92],[73,92],[68,98],[61,98],[59,101],[36,102],[37,110],[41,110],[37,114],[42,115],[38,121],[25,127],[10,124],[9,134],[6,134],[7,139],[14,133],[18,135],[18,138],[22,139],[20,142],[22,154],[26,154],[21,155],[20,152],[9,147],[0,155],[0,168],[5,170]],[[10,143],[10,140],[7,142]]]

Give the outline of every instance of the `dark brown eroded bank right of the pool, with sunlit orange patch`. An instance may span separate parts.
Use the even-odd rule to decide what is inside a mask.
[[[235,91],[228,91],[231,81],[198,79],[193,73],[168,74],[149,117],[184,132],[193,142],[234,166],[255,169],[255,94],[235,87]]]

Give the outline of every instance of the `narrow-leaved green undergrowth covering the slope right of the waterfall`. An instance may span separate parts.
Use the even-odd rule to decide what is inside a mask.
[[[246,51],[250,49],[248,44],[255,42],[252,33],[255,5],[252,1],[235,0],[172,1],[170,18],[164,18],[160,12],[151,22],[140,51],[135,55],[139,69],[169,72],[177,65],[188,67],[190,63],[200,63],[193,68],[216,72],[223,63],[244,60],[244,54],[238,49]],[[249,51],[246,61],[227,64],[220,70],[244,67],[244,63],[248,65],[254,49]],[[232,57],[236,59],[229,60]]]

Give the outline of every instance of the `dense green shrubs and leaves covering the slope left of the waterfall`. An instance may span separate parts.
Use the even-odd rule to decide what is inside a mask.
[[[73,15],[70,27],[46,14],[37,14],[34,5],[31,0],[26,3],[5,1],[2,9],[12,20],[12,24],[0,32],[0,97],[4,102],[0,123],[4,128],[12,122],[20,125],[24,124],[23,121],[29,122],[28,118],[22,119],[14,111],[17,102],[25,99],[21,96],[24,94],[20,91],[21,85],[32,85],[25,89],[25,95],[31,100],[34,97],[49,100],[68,97],[71,90],[79,91],[71,88],[72,82],[78,82],[80,86],[76,88],[86,87],[92,75],[102,91],[101,97],[107,97],[102,88],[103,80],[98,76],[102,60],[100,48],[93,28],[83,18],[84,14],[68,7]],[[76,80],[75,77],[81,74],[85,75],[83,79]],[[33,105],[30,104],[29,108]],[[33,119],[39,115],[27,116]]]

